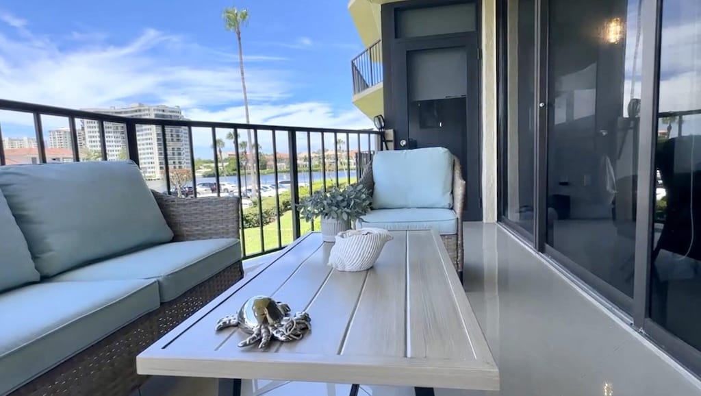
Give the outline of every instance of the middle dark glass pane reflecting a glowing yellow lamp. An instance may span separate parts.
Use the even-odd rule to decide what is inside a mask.
[[[639,4],[550,0],[548,20],[547,244],[617,303],[633,293]]]

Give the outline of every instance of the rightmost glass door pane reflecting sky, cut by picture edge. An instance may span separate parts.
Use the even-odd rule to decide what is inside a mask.
[[[701,349],[701,2],[663,4],[650,315]]]

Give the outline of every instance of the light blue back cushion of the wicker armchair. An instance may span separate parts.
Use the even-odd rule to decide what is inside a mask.
[[[453,206],[453,157],[443,147],[377,152],[372,178],[374,209]]]

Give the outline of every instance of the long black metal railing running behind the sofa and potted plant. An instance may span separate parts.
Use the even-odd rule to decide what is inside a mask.
[[[17,150],[4,147],[6,138],[10,143],[9,136],[27,130],[9,131],[3,122],[8,112],[15,113],[13,119],[17,114],[32,117],[26,124],[34,126],[33,136],[22,140],[33,142],[32,154],[20,150],[18,156],[13,154]],[[53,147],[53,138],[47,144],[47,117],[50,124],[68,127],[63,147]],[[302,221],[296,210],[300,199],[360,178],[374,152],[382,150],[382,139],[372,130],[128,118],[0,100],[0,166],[131,159],[151,189],[193,199],[240,197],[245,258],[282,249],[315,230],[318,225]],[[99,152],[91,150],[89,141]]]

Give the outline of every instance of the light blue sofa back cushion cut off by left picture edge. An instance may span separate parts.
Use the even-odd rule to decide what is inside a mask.
[[[27,240],[0,190],[0,292],[39,281]]]

